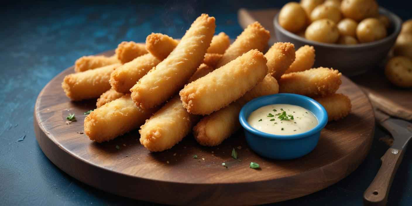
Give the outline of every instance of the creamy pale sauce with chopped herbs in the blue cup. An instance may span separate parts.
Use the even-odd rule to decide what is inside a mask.
[[[248,123],[265,133],[292,135],[313,129],[318,119],[311,111],[297,105],[272,104],[253,111]]]

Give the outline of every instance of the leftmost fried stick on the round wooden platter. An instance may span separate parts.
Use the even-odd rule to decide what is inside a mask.
[[[72,101],[98,98],[110,89],[110,74],[121,64],[74,73],[64,77],[61,87]]]

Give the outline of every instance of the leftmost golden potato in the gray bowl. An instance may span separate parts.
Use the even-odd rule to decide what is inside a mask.
[[[297,32],[306,25],[306,13],[297,2],[289,2],[279,12],[279,24],[290,32]]]

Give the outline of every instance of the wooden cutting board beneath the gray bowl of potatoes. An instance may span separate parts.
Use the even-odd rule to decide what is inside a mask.
[[[238,20],[242,28],[259,21],[270,31],[269,45],[277,42],[273,19],[279,9],[248,10],[239,9]],[[339,69],[339,68],[338,68]],[[389,115],[406,120],[412,120],[412,89],[402,89],[393,86],[385,77],[383,68],[375,68],[363,75],[351,77],[368,95],[370,101],[380,110]]]

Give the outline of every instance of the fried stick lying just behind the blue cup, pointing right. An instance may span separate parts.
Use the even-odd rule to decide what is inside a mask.
[[[342,76],[338,70],[314,68],[282,75],[279,93],[302,94],[309,97],[328,96],[339,89]]]

